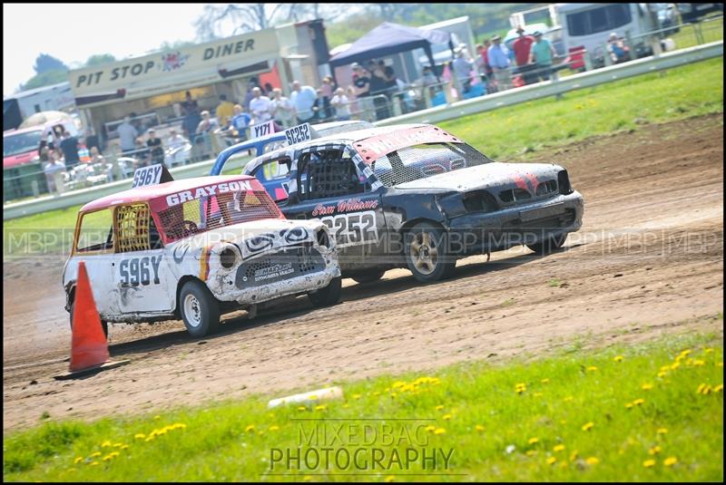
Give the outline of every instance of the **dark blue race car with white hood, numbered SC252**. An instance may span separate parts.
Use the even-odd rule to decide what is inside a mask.
[[[456,259],[526,245],[546,253],[582,225],[583,197],[554,164],[501,163],[428,124],[348,131],[250,160],[290,219],[334,231],[344,277],[407,267],[422,282]]]

